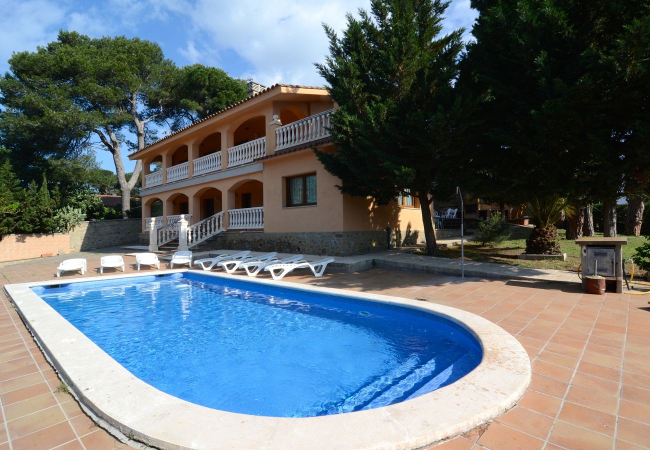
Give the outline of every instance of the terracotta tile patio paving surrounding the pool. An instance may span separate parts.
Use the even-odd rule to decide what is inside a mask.
[[[100,256],[0,267],[0,284],[51,280],[66,258],[87,258],[84,277],[97,277]],[[124,258],[126,272],[134,272],[135,258]],[[525,396],[495,421],[436,450],[650,448],[650,295],[587,295],[575,283],[461,279],[384,267],[322,278],[302,273],[284,280],[453,306],[499,324],[523,345],[533,369]],[[72,278],[81,274],[66,272],[59,280]],[[0,450],[126,447],[95,425],[70,394],[57,392],[59,378],[4,293],[0,297]]]

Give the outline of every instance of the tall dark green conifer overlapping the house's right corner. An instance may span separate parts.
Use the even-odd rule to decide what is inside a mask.
[[[348,14],[339,39],[325,26],[330,56],[316,64],[339,109],[337,146],[317,152],[339,189],[388,204],[408,190],[420,200],[428,254],[437,254],[431,203],[448,198],[462,168],[459,140],[469,123],[453,88],[462,29],[440,36],[447,1],[373,0],[371,15]]]

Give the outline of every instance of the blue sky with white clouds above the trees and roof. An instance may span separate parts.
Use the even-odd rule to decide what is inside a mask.
[[[469,0],[452,0],[445,31],[476,17]],[[369,9],[369,0],[2,0],[0,73],[16,51],[34,51],[56,40],[59,29],[92,37],[127,36],[157,42],[178,66],[196,62],[263,85],[321,86],[313,63],[328,42],[321,23],[344,29],[345,15]],[[127,149],[122,148],[123,159]],[[114,172],[110,154],[98,150],[103,168]],[[125,161],[127,171],[133,163]]]

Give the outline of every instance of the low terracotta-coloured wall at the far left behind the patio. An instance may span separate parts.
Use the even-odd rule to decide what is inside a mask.
[[[70,236],[55,234],[5,234],[0,241],[0,263],[70,253]]]

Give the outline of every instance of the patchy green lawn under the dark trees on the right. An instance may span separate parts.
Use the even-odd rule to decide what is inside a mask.
[[[578,265],[580,264],[580,246],[576,245],[573,240],[567,241],[567,239],[560,239],[560,251],[567,254],[566,261],[559,259],[547,259],[544,261],[517,259],[517,255],[522,254],[526,250],[526,238],[530,235],[530,230],[530,228],[525,227],[513,227],[510,239],[495,246],[482,246],[473,241],[465,241],[465,258],[473,261],[535,267],[537,269],[577,271]],[[560,236],[564,236],[564,230],[560,230]],[[596,233],[596,236],[603,237],[603,234]],[[627,245],[623,246],[623,259],[630,258],[638,246],[647,242],[643,236],[623,237],[627,237]],[[460,246],[443,248],[439,256],[443,258],[460,258]],[[629,263],[626,263],[625,271],[628,274],[630,273]]]

